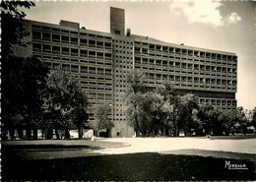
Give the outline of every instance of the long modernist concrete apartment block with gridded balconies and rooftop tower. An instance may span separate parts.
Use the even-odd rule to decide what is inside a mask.
[[[110,33],[80,28],[78,23],[59,25],[25,21],[32,45],[17,48],[19,55],[33,55],[50,69],[58,65],[75,73],[93,103],[90,121],[98,104],[112,108],[112,137],[131,137],[123,95],[127,74],[139,70],[144,85],[175,85],[180,94],[194,93],[200,103],[224,109],[236,108],[237,56],[235,53],[163,42],[125,32],[124,10],[110,8]]]

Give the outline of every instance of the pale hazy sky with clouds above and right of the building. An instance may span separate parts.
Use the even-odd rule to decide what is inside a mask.
[[[169,43],[234,52],[238,56],[237,106],[256,107],[255,8],[251,1],[35,1],[26,19],[76,22],[110,31],[110,7],[125,9],[125,28]]]

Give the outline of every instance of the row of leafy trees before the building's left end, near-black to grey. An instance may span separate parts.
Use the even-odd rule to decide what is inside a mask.
[[[60,67],[49,71],[34,57],[10,56],[2,72],[2,134],[9,131],[11,139],[18,130],[20,139],[26,130],[28,140],[57,139],[60,131],[70,138],[69,130],[87,126],[89,99],[75,75]],[[45,135],[45,136],[43,136]]]

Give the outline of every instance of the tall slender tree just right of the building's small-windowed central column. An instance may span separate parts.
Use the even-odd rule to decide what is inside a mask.
[[[143,92],[143,74],[141,72],[133,71],[127,76],[128,90],[125,95],[125,102],[127,105],[126,117],[130,125],[134,127],[136,136],[140,136],[140,126],[138,120],[138,105],[141,101]]]

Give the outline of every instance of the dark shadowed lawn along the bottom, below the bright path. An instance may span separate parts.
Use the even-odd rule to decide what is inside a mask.
[[[246,164],[230,170],[225,161]],[[158,152],[60,159],[22,159],[2,155],[2,180],[255,180],[255,163]]]

